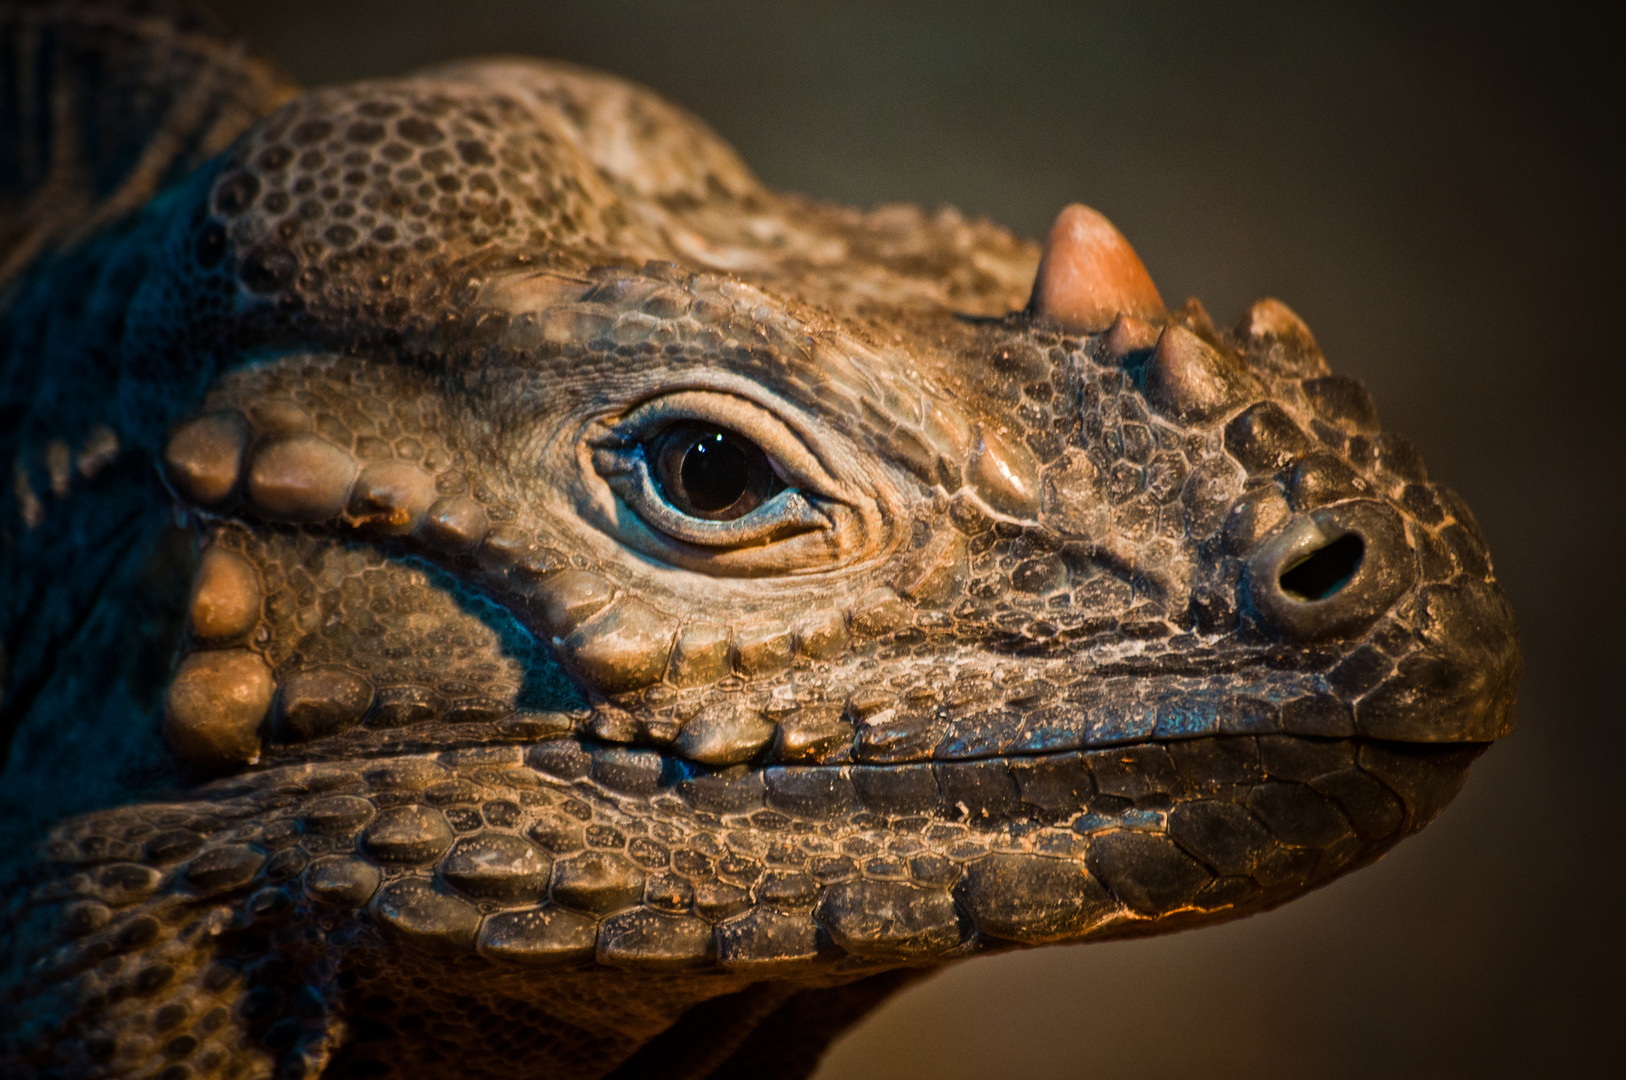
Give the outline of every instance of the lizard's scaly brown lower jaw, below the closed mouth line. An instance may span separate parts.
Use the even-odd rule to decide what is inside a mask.
[[[257,803],[252,843],[268,857],[241,890],[280,890],[328,932],[520,968],[841,981],[1280,904],[1426,825],[1481,750],[1220,735],[698,771],[551,738],[288,766],[197,795]],[[371,817],[335,826],[319,813],[335,797],[366,800]],[[380,839],[408,812],[447,834],[421,851]],[[192,864],[228,836],[242,846],[228,830]],[[459,851],[493,836],[551,867],[459,873]],[[166,882],[185,893],[192,864]]]

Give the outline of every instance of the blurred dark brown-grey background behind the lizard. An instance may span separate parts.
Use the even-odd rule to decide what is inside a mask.
[[[1379,865],[1281,911],[963,965],[834,1078],[1626,1075],[1616,506],[1626,41],[1527,3],[221,0],[307,85],[563,57],[772,185],[1042,236],[1088,202],[1172,303],[1302,314],[1468,499],[1525,642],[1519,732]]]

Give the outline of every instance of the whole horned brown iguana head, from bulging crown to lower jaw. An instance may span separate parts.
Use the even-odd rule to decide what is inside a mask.
[[[502,60],[299,98],[137,241],[107,425],[200,547],[132,740],[286,821],[233,886],[408,950],[836,981],[1210,922],[1509,730],[1462,501],[1286,306],[1171,312],[1085,207],[1041,252],[782,195]]]

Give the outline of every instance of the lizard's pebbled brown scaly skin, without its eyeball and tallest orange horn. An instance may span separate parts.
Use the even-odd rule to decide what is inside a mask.
[[[1511,729],[1472,514],[1276,301],[1080,329],[566,65],[0,31],[8,1077],[800,1077],[1371,862]],[[789,494],[676,520],[675,421]]]

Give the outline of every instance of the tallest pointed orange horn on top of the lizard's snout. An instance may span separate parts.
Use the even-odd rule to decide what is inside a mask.
[[[1083,203],[1065,207],[1050,226],[1028,311],[1086,333],[1106,330],[1119,312],[1158,322],[1169,317],[1135,249]]]

